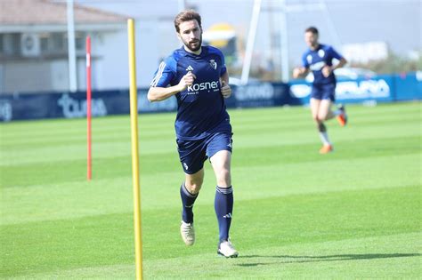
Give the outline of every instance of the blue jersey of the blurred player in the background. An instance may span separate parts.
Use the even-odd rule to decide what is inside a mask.
[[[334,73],[328,77],[322,75],[322,68],[326,65],[332,66],[333,59],[341,60],[343,57],[336,52],[332,46],[327,44],[320,44],[314,51],[309,49],[304,52],[302,63],[304,68],[309,68],[313,73],[313,84],[334,84],[336,83],[336,76]]]

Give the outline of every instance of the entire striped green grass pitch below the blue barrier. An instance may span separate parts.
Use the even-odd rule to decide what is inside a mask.
[[[183,244],[174,114],[141,115],[144,278],[422,276],[421,108],[349,106],[348,126],[328,123],[324,156],[309,109],[231,110],[237,259],[216,254],[209,163],[197,242]],[[0,277],[134,278],[129,116],[93,119],[92,181],[84,119],[0,130]]]

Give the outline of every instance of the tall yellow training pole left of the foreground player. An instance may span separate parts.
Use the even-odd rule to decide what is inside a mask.
[[[142,279],[142,228],[141,228],[141,188],[139,184],[138,158],[138,101],[136,89],[136,66],[134,56],[134,20],[127,20],[129,37],[129,76],[130,76],[130,119],[132,132],[132,180],[134,184],[134,252],[136,279]]]

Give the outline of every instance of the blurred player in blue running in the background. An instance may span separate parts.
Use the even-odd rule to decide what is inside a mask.
[[[333,150],[333,146],[329,141],[327,127],[324,122],[337,116],[340,125],[345,126],[347,123],[344,106],[340,106],[336,111],[331,110],[331,105],[335,101],[336,92],[336,76],[334,76],[334,70],[343,67],[347,61],[332,46],[318,42],[317,28],[306,28],[304,31],[304,41],[309,46],[309,50],[304,52],[302,67],[293,70],[293,77],[306,76],[312,70],[314,77],[311,92],[312,118],[317,124],[322,141],[320,153],[327,154]],[[333,59],[339,60],[335,66],[332,63]]]

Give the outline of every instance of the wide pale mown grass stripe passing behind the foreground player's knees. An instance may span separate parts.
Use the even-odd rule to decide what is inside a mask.
[[[366,188],[394,188],[420,185],[418,156],[367,158],[361,161],[329,161],[321,164],[296,163],[237,167],[232,171],[236,201],[293,194],[324,193]],[[409,164],[414,163],[414,164]],[[358,167],[358,169],[353,169]],[[321,180],[321,174],[327,179]],[[248,177],[244,174],[249,172]],[[199,202],[213,204],[215,179],[206,168],[204,188]],[[141,177],[142,209],[180,206],[180,172],[144,174]],[[356,178],[359,178],[357,180]],[[263,183],[264,182],[264,183]],[[130,177],[109,178],[87,182],[63,182],[5,188],[0,205],[1,224],[31,220],[58,220],[100,213],[128,212],[132,209]],[[37,199],[35,199],[37,197]],[[58,199],[60,197],[60,199]],[[159,197],[159,199],[156,199]],[[94,203],[93,203],[94,201]],[[67,209],[73,209],[68,212]]]

